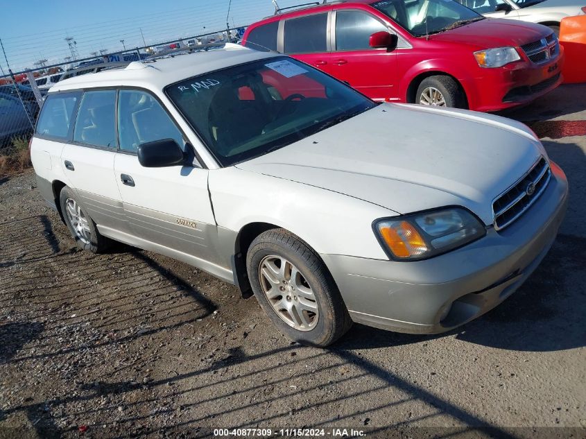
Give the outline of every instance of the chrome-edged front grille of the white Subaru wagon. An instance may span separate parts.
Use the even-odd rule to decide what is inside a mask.
[[[541,157],[528,173],[492,203],[494,228],[501,230],[522,216],[541,196],[550,178],[549,164]]]

